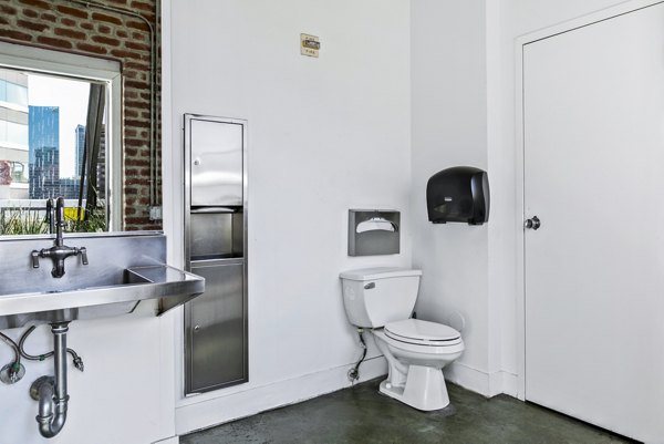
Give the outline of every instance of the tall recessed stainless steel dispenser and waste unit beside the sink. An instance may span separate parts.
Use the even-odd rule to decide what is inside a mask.
[[[247,122],[185,114],[185,394],[248,381]]]

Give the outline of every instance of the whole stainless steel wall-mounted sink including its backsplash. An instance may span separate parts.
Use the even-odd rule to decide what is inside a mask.
[[[0,282],[0,329],[129,313],[148,299],[158,300],[157,314],[162,314],[205,290],[204,278],[155,264],[165,260],[160,234],[76,237],[75,242],[87,248],[90,267],[70,258],[62,279],[53,278],[50,267],[31,269],[23,256],[35,240],[28,240],[25,245],[17,240],[19,250],[25,251],[19,254],[19,267],[7,269],[0,264],[2,276],[9,277]]]

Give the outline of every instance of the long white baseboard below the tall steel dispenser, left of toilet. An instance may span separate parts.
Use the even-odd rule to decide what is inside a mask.
[[[183,405],[175,411],[175,431],[178,435],[184,435],[349,388],[352,385],[347,379],[351,366],[352,364],[346,364],[242,392],[235,392],[229,395],[208,399],[199,403]],[[386,373],[385,359],[383,357],[372,358],[362,363],[359,382]]]

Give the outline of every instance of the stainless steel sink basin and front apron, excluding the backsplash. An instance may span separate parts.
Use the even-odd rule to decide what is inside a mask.
[[[158,314],[203,293],[205,279],[158,265],[133,267],[94,286],[0,295],[0,329],[131,313],[142,300],[158,299]]]

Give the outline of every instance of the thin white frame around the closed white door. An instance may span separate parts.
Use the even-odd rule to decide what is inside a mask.
[[[526,146],[523,125],[523,47],[540,40],[549,39],[579,28],[589,27],[641,9],[664,3],[664,0],[630,0],[614,7],[602,9],[590,14],[581,16],[566,22],[554,24],[528,34],[520,35],[515,41],[515,104],[516,104],[516,174],[517,174],[517,397],[526,401],[526,230],[522,221],[526,220]]]

